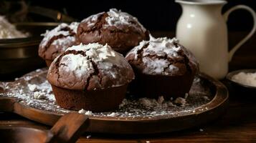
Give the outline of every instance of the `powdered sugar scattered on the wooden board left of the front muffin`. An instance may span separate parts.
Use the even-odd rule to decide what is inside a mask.
[[[14,97],[22,104],[37,109],[67,112],[65,109],[58,109],[59,106],[52,94],[52,87],[46,80],[46,71],[47,69],[39,69],[16,79],[14,83],[1,83],[0,87],[4,89],[4,92],[0,92],[0,97]],[[37,75],[34,75],[35,73]]]

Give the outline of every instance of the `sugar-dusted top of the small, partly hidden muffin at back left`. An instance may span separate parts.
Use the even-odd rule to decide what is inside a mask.
[[[72,22],[70,25],[62,23],[51,31],[46,31],[44,39],[39,44],[39,56],[53,60],[65,49],[73,46],[78,24],[77,22]]]

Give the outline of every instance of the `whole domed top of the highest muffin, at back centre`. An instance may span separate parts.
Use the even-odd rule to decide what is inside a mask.
[[[147,39],[148,31],[138,19],[117,9],[89,16],[77,28],[77,41],[83,44],[108,44],[121,54]]]

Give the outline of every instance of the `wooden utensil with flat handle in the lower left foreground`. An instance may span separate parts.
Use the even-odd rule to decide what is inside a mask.
[[[2,102],[3,103],[3,102]],[[75,142],[88,126],[88,117],[78,113],[68,113],[61,117],[50,130],[29,127],[0,127],[3,142]]]

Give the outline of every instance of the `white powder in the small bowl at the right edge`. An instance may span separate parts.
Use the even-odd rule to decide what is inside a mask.
[[[238,82],[240,84],[244,84],[247,86],[256,87],[256,72],[255,73],[240,72],[238,74],[235,74],[232,77],[232,81]]]

